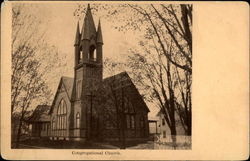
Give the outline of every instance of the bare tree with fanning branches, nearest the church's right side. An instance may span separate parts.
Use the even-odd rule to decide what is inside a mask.
[[[154,53],[144,47],[146,54],[134,53],[130,56],[129,65],[133,77],[140,75],[138,86],[149,86],[147,96],[155,102],[164,114],[167,125],[170,128],[173,142],[175,142],[176,118],[175,118],[175,75],[171,65],[164,55],[155,57]],[[165,65],[167,64],[167,65]]]

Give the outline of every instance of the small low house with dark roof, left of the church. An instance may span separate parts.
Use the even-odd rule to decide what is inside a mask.
[[[38,105],[32,115],[28,118],[27,123],[30,125],[32,138],[50,136],[49,110],[50,106],[48,105]]]

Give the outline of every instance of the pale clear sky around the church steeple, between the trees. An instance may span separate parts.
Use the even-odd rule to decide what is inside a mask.
[[[36,3],[28,8],[28,12],[35,15],[41,21],[41,28],[46,30],[46,42],[58,49],[59,57],[66,62],[63,70],[53,74],[53,79],[49,82],[52,92],[55,93],[60,77],[73,77],[74,68],[74,40],[78,19],[73,16],[79,3]],[[86,5],[87,6],[87,5]],[[83,19],[84,17],[82,17]],[[97,26],[99,17],[93,16]],[[80,30],[82,21],[80,23]],[[128,31],[126,33],[115,30],[114,24],[104,18],[101,19],[103,34],[103,56],[123,61],[128,56],[128,50],[136,47],[140,34]],[[105,76],[104,76],[105,77]],[[150,116],[156,114],[155,108],[152,109]]]

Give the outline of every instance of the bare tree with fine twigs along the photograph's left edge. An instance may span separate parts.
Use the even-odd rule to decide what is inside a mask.
[[[18,120],[16,147],[24,120],[34,103],[48,104],[52,93],[45,78],[56,64],[55,47],[46,44],[41,22],[27,12],[24,4],[12,7],[11,118]],[[50,55],[50,56],[49,56]],[[55,55],[55,56],[53,56]],[[18,116],[18,118],[14,118]],[[14,133],[16,130],[13,130]]]

